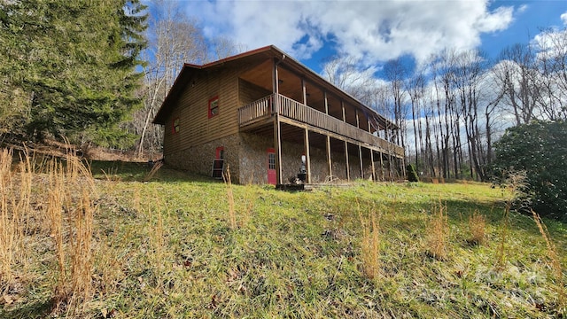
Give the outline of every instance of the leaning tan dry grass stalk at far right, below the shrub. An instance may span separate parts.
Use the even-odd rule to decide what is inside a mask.
[[[541,221],[541,217],[536,212],[532,211],[533,221],[538,226],[538,230],[540,230],[541,237],[546,242],[546,246],[548,247],[548,257],[551,261],[551,268],[553,269],[553,276],[555,278],[555,289],[557,291],[557,309],[558,313],[561,315],[567,314],[567,300],[565,299],[565,288],[563,287],[563,270],[561,267],[561,261],[559,260],[559,254],[557,253],[557,247],[553,241],[551,241],[551,237],[549,236],[548,227]]]

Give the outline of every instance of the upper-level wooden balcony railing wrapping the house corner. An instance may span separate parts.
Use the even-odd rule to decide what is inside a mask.
[[[400,158],[404,156],[404,149],[401,146],[280,94],[262,97],[249,105],[239,108],[238,124],[240,128],[246,128],[268,121],[276,114],[283,119],[291,120],[291,124],[293,124],[293,121],[307,124],[312,128],[322,130],[323,134],[327,132],[333,135],[344,136],[348,140],[367,144],[377,149],[377,151],[390,153]]]

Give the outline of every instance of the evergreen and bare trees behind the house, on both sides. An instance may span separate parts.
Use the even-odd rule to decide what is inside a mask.
[[[204,27],[175,2],[0,2],[0,133],[144,152],[151,120],[183,63],[254,48]],[[447,49],[421,66],[387,61],[384,78],[344,56],[322,76],[400,127],[394,142],[420,176],[486,181],[506,128],[567,118],[567,30],[541,30],[490,59]]]

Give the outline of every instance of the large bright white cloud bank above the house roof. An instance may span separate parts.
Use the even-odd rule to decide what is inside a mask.
[[[505,29],[511,7],[484,1],[190,1],[187,11],[206,35],[226,35],[248,48],[276,44],[309,58],[330,41],[339,53],[418,60],[445,48],[471,49],[482,33]]]

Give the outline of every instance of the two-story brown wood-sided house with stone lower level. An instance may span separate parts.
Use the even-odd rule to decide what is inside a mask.
[[[185,64],[153,122],[165,126],[167,165],[216,177],[229,167],[236,183],[388,180],[404,171],[391,121],[275,46]]]

